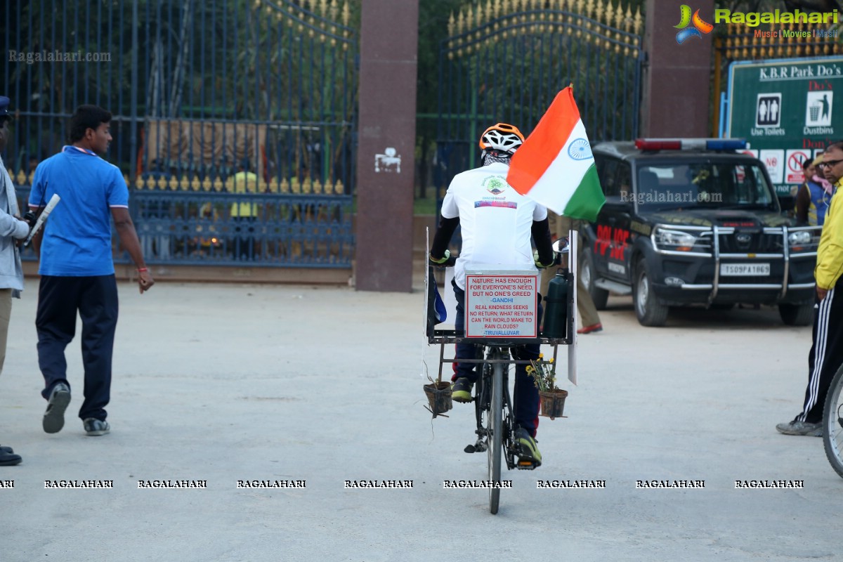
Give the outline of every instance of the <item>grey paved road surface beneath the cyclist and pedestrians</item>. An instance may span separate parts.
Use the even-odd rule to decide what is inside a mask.
[[[511,472],[501,511],[468,455],[471,408],[422,407],[421,296],[310,286],[121,284],[109,407],[87,437],[78,342],[68,347],[67,425],[46,435],[35,356],[37,286],[15,302],[0,377],[3,562],[32,560],[748,560],[840,559],[843,480],[822,442],[776,433],[801,406],[810,329],[774,309],[685,311],[637,325],[609,302],[606,330],[581,340],[566,420],[542,420],[545,464]],[[435,368],[434,348],[425,354]],[[46,490],[45,480],[113,480]],[[206,480],[205,490],[138,480]],[[238,489],[237,481],[306,487]],[[346,479],[412,480],[349,490]],[[604,480],[542,490],[537,479]],[[641,489],[637,480],[705,480]],[[735,490],[735,480],[803,480]]]

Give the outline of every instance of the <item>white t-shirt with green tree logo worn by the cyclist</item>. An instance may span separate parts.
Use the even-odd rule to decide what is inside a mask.
[[[465,289],[465,270],[477,265],[535,269],[530,244],[533,221],[547,209],[507,184],[509,166],[492,163],[457,174],[442,202],[442,217],[459,217],[463,248],[454,266],[457,286]]]

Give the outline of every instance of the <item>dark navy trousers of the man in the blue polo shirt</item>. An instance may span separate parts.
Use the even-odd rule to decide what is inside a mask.
[[[82,318],[82,361],[85,385],[79,417],[105,420],[111,390],[111,356],[117,327],[115,276],[41,276],[38,287],[38,366],[44,375],[41,396],[50,398],[57,383],[67,381],[64,349],[76,332],[76,313]]]

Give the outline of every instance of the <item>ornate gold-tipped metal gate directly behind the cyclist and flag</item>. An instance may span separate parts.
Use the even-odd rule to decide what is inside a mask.
[[[638,131],[642,16],[606,0],[486,0],[452,15],[440,51],[436,182],[478,165],[480,133],[524,134],[573,84],[592,142]]]

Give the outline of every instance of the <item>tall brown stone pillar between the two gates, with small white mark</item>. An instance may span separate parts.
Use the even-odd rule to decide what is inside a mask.
[[[410,292],[418,0],[366,0],[360,31],[358,291]]]

